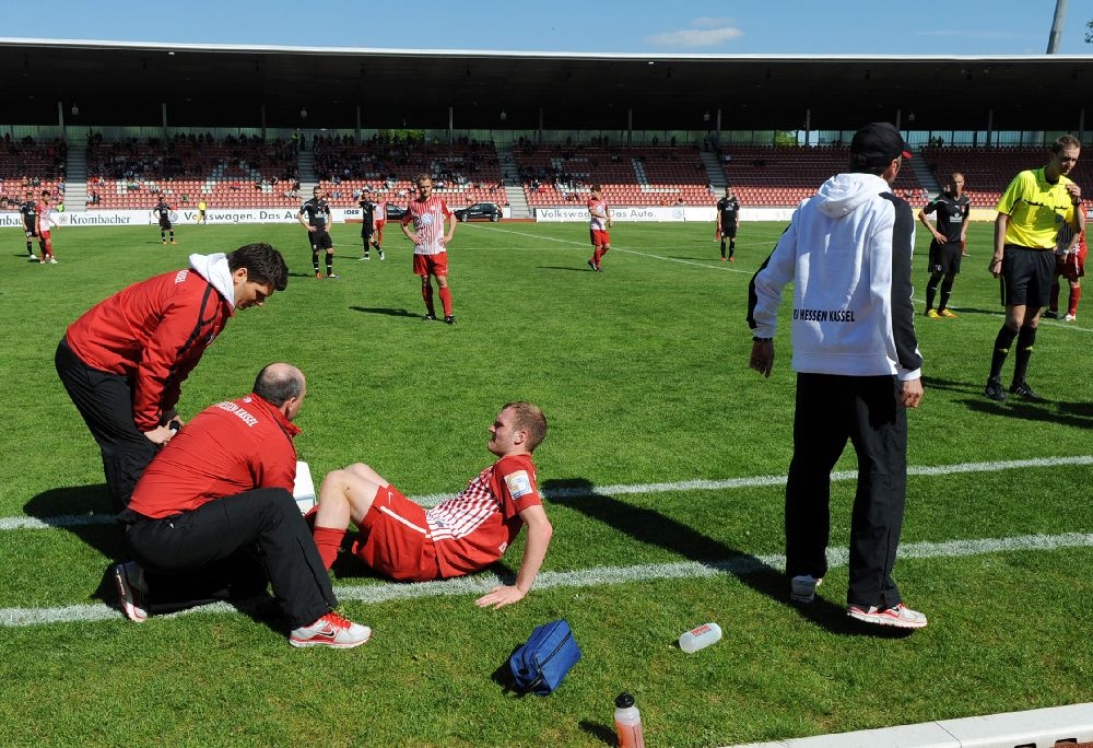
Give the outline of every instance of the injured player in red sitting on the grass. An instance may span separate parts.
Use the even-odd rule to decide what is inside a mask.
[[[431,510],[410,501],[367,465],[334,470],[315,510],[315,544],[329,569],[352,521],[353,554],[399,581],[463,576],[500,559],[528,526],[524,559],[510,585],[475,600],[479,607],[518,603],[534,584],[554,530],[543,511],[531,454],[546,436],[546,418],[530,402],[509,402],[490,426],[486,448],[498,457],[459,495]]]

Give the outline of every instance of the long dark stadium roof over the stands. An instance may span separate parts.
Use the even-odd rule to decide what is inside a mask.
[[[0,38],[0,125],[1066,130],[1089,56],[616,55]],[[15,103],[21,103],[14,105]],[[71,116],[73,104],[79,116]],[[307,117],[301,117],[306,109]],[[449,120],[450,112],[450,120]],[[502,113],[504,117],[502,117]],[[708,120],[705,118],[709,114]],[[897,114],[900,113],[900,114]],[[912,117],[912,114],[914,115]]]

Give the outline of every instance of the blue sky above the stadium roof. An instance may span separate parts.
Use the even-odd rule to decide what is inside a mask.
[[[1069,0],[1059,54],[1093,56]],[[27,12],[33,7],[33,12]],[[0,36],[666,55],[1043,55],[1056,0],[0,0]]]

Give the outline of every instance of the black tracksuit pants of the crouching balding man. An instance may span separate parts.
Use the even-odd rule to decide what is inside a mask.
[[[312,531],[285,489],[255,489],[151,519],[132,511],[126,544],[144,569],[149,613],[165,613],[266,589],[290,628],[338,605]]]

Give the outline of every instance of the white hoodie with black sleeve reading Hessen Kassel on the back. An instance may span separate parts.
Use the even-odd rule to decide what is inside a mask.
[[[838,174],[803,200],[752,278],[748,324],[773,338],[781,291],[794,283],[796,372],[921,376],[915,338],[910,206],[872,174]]]

